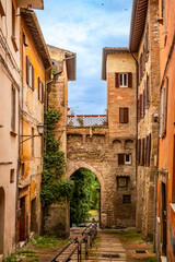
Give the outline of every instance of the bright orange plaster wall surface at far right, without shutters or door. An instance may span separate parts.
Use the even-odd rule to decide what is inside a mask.
[[[162,20],[162,1],[160,0],[160,64],[161,81],[163,79],[168,53],[175,32],[175,1],[166,0],[166,17],[167,17],[167,36],[165,38],[164,20]],[[171,203],[175,204],[175,171],[174,169],[174,135],[175,135],[175,47],[173,47],[172,58],[168,62],[165,78],[168,78],[168,95],[167,95],[167,122],[166,135],[160,139],[160,159],[159,169],[166,169],[167,176],[167,261],[175,261],[175,210],[171,207]],[[164,84],[163,84],[164,87]],[[158,183],[158,216],[161,213],[161,189],[160,180]],[[158,248],[159,251],[161,247]]]

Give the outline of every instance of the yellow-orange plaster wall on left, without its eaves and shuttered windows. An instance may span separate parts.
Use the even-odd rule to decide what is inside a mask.
[[[25,34],[24,46],[22,43],[22,34]],[[30,58],[34,67],[34,91],[26,83],[26,56]],[[32,135],[32,128],[34,129],[34,135],[38,135],[37,124],[44,123],[44,103],[38,99],[38,78],[45,86],[45,74],[46,70],[44,68],[43,61],[38,56],[37,49],[35,47],[34,40],[31,33],[25,24],[23,17],[21,17],[21,68],[22,68],[22,79],[23,86],[21,91],[21,108],[23,114],[21,115],[21,134]],[[25,140],[27,138],[21,138]],[[22,174],[22,168],[20,172],[20,184],[25,184],[25,188],[20,190],[19,193],[19,205],[22,198],[25,198],[25,225],[23,225],[25,230],[25,237],[31,233],[31,221],[32,221],[32,200],[36,199],[36,233],[40,230],[40,182],[42,182],[42,170],[43,170],[43,153],[42,153],[42,138],[33,138],[34,144],[34,155],[32,154],[32,139],[21,144],[21,164],[24,163],[24,174]],[[22,166],[21,166],[22,167]],[[25,181],[25,182],[24,182]],[[27,219],[26,219],[27,217]],[[28,225],[26,225],[28,221]],[[20,222],[19,222],[20,223]],[[22,222],[21,222],[22,224]],[[28,231],[26,231],[28,228]],[[19,225],[20,235],[20,225]],[[20,238],[19,238],[20,241]]]

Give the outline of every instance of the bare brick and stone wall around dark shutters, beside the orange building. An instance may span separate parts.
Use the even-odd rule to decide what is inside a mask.
[[[149,31],[149,55],[145,71],[139,82],[138,97],[143,94],[147,74],[149,75],[149,106],[138,122],[138,140],[151,134],[150,166],[138,166],[136,226],[147,240],[153,238],[154,224],[154,177],[156,172],[158,129],[159,129],[159,23],[158,1],[149,1],[145,28],[140,41],[138,57],[143,51],[144,35]],[[147,27],[148,25],[148,27]],[[139,61],[139,59],[138,59]]]

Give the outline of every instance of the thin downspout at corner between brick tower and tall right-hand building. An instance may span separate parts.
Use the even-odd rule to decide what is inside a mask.
[[[136,57],[133,56],[133,53],[131,52],[131,50],[129,49],[130,55],[132,56],[133,60],[136,61],[136,187],[137,187],[137,178],[138,178],[138,162],[137,162],[137,152],[138,152],[138,107],[137,107],[137,103],[138,103],[138,60],[136,59]]]

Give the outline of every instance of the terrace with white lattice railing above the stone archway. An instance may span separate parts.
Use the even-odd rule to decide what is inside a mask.
[[[108,128],[106,115],[69,115],[67,118],[69,128]]]

